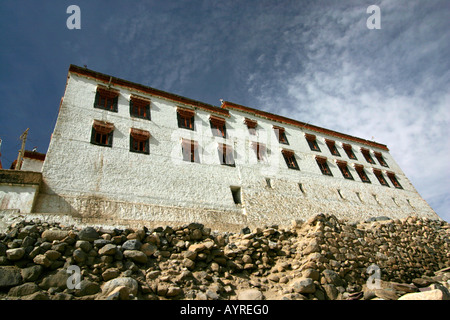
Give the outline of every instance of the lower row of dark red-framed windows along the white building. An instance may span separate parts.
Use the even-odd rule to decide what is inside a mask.
[[[92,131],[91,131],[91,143],[95,145],[100,146],[109,146],[112,147],[113,142],[113,131],[114,131],[114,124],[94,120]],[[130,151],[137,152],[137,153],[143,153],[143,154],[149,154],[150,153],[150,146],[149,146],[149,140],[150,140],[150,132],[146,130],[131,128],[130,130]],[[182,140],[182,154],[183,154],[183,160],[187,162],[200,162],[199,157],[199,149],[198,149],[198,142],[190,139],[183,139]],[[255,155],[258,161],[266,162],[267,161],[267,149],[266,146],[262,143],[258,142],[252,142],[252,147],[255,151]],[[295,153],[292,150],[288,149],[282,149],[281,153],[283,155],[283,158],[286,162],[286,165],[289,169],[294,170],[300,170]],[[220,163],[222,165],[227,166],[235,166],[234,161],[234,152],[233,147],[227,144],[219,143],[218,146],[218,156]],[[316,162],[319,166],[320,171],[324,175],[333,176],[333,173],[331,172],[328,161],[326,157],[316,156]],[[342,176],[345,179],[354,180],[353,175],[351,174],[348,164],[346,161],[339,161],[336,160],[336,164],[339,168],[339,170],[342,173]],[[362,182],[365,183],[371,183],[369,177],[364,171],[364,167],[359,164],[353,164],[356,172],[358,173],[358,176],[360,177]],[[383,173],[379,169],[373,168],[373,173],[377,177],[380,184],[384,186],[389,186],[386,182],[386,179],[383,176]],[[402,188],[400,183],[398,182],[396,176],[392,172],[386,172],[389,179],[391,180],[392,184],[396,188]]]

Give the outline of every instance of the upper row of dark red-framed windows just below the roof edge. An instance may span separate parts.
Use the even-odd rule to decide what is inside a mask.
[[[105,109],[113,112],[117,112],[119,92],[117,90],[111,90],[104,88],[102,86],[97,87],[97,93],[95,96],[94,107],[99,109]],[[141,119],[150,120],[150,100],[131,95],[130,97],[130,116],[137,117]],[[194,130],[194,119],[195,111],[191,109],[178,108],[177,109],[177,122],[179,128],[184,128],[188,130]],[[210,125],[213,135],[219,137],[226,137],[226,120],[217,116],[210,116]],[[244,123],[247,125],[249,133],[251,135],[256,135],[256,129],[258,122],[249,118],[245,118]],[[273,126],[275,135],[281,144],[289,145],[285,128],[279,126]],[[308,142],[309,148],[315,152],[321,152],[320,147],[317,143],[315,135],[305,134],[306,141]],[[337,157],[341,157],[339,150],[336,147],[336,142],[330,139],[325,139],[325,143],[330,150],[331,154]],[[347,154],[349,159],[358,160],[353,148],[350,144],[343,143],[342,147]],[[373,159],[369,149],[360,149],[365,160],[370,164],[376,164]],[[375,158],[378,160],[380,165],[389,168],[386,160],[384,159],[381,152],[374,152]]]

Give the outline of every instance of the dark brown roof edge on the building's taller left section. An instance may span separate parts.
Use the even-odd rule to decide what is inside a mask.
[[[158,89],[154,89],[148,86],[144,86],[142,84],[138,84],[135,82],[131,82],[128,80],[123,80],[120,78],[116,78],[116,77],[112,77],[97,71],[93,71],[87,68],[82,68],[76,65],[71,64],[69,67],[69,72],[72,73],[76,73],[78,75],[83,75],[83,76],[87,76],[90,78],[94,78],[96,80],[100,80],[103,81],[105,83],[109,83],[109,81],[111,80],[111,84],[112,85],[118,85],[121,87],[126,87],[126,88],[132,88],[135,89],[137,91],[141,91],[144,93],[148,93],[151,94],[153,96],[158,96],[158,97],[162,97],[162,98],[166,98],[169,100],[173,100],[175,102],[181,102],[190,106],[194,106],[194,107],[199,107],[208,111],[212,111],[212,112],[216,112],[225,116],[229,116],[229,112],[228,110],[204,103],[204,102],[200,102],[197,100],[193,100],[193,99],[189,99],[183,96],[179,96],[177,94],[173,94],[173,93],[169,93],[169,92],[165,92],[162,90],[158,90]]]

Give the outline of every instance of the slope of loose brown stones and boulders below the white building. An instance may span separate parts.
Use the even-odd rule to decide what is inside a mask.
[[[22,220],[0,234],[0,298],[449,300],[449,234],[417,217],[321,214],[240,233]]]

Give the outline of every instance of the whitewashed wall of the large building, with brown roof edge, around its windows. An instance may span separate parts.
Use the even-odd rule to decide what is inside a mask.
[[[117,112],[94,108],[97,88],[108,85],[119,91]],[[150,120],[130,115],[132,96],[150,100]],[[194,130],[178,127],[178,108],[195,112]],[[210,116],[225,120],[225,138],[213,135]],[[257,121],[256,134],[245,118]],[[92,143],[94,120],[113,124],[111,146]],[[288,145],[279,142],[274,125],[285,129]],[[148,154],[130,151],[132,129],[150,133]],[[316,136],[321,152],[311,151],[305,133]],[[183,139],[197,143],[198,162],[183,160]],[[335,141],[340,156],[331,154],[325,139]],[[252,142],[265,145],[263,161],[257,160]],[[352,146],[357,160],[348,158],[342,143]],[[232,148],[234,166],[221,164],[221,144]],[[361,147],[370,150],[375,164],[366,162]],[[283,149],[294,152],[299,170],[287,167]],[[374,152],[382,153],[388,168]],[[322,174],[316,156],[327,158],[333,176]],[[336,160],[347,162],[354,180],[343,177]],[[354,164],[364,166],[371,183],[361,181]],[[389,187],[380,185],[373,168],[383,172]],[[402,189],[392,185],[386,171],[395,174]],[[69,70],[42,174],[34,211],[86,219],[227,228],[289,224],[320,212],[350,220],[411,214],[438,218],[383,145],[308,129],[232,103],[209,106],[75,66]]]

